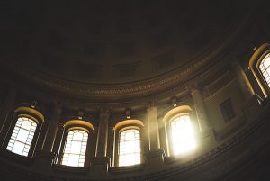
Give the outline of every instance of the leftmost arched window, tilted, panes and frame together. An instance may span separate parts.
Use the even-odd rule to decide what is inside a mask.
[[[19,107],[15,110],[13,130],[9,131],[6,149],[24,157],[33,155],[37,137],[40,132],[43,115],[31,107]]]

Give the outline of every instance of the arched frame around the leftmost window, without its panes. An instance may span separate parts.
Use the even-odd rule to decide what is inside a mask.
[[[27,156],[19,155],[17,153],[14,153],[13,151],[7,149],[8,143],[9,143],[9,141],[12,137],[12,134],[14,132],[14,128],[16,126],[16,123],[20,117],[29,118],[33,122],[36,122],[36,124],[37,124],[37,127],[34,131],[33,139],[31,140],[31,145],[30,145],[30,149],[29,149]],[[17,109],[15,109],[14,115],[12,118],[11,126],[9,127],[9,130],[7,131],[7,134],[6,134],[6,137],[4,140],[4,144],[3,144],[3,147],[6,150],[6,152],[13,154],[15,157],[18,157],[18,158],[33,158],[35,155],[35,150],[37,149],[37,144],[38,144],[38,140],[40,137],[40,131],[41,131],[41,127],[42,127],[43,122],[44,122],[43,114],[41,114],[38,110],[36,110],[32,107],[22,106],[22,107],[18,107]]]

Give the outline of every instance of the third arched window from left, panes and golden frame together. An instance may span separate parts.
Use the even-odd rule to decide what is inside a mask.
[[[114,166],[132,166],[142,162],[143,122],[126,120],[114,127]]]

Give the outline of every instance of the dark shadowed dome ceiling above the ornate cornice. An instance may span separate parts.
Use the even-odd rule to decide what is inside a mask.
[[[8,7],[2,59],[42,76],[95,85],[148,80],[228,38],[235,1],[90,1]]]

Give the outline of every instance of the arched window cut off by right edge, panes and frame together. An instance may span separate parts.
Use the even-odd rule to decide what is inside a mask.
[[[249,61],[249,68],[265,97],[270,95],[270,44],[265,43],[255,51]]]

